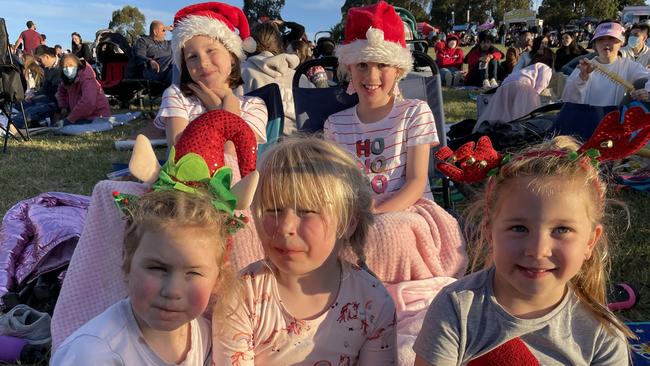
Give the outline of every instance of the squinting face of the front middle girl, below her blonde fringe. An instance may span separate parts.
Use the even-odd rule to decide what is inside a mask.
[[[336,220],[316,211],[267,209],[258,227],[264,252],[279,275],[299,276],[338,260]]]

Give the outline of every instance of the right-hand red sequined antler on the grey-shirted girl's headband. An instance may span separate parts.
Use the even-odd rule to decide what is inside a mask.
[[[600,152],[599,161],[615,160],[634,154],[649,140],[650,113],[631,107],[625,111],[622,123],[618,111],[608,113],[578,152],[596,149]]]

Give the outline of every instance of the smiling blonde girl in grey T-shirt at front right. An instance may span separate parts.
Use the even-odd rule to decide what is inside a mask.
[[[631,333],[605,304],[607,187],[577,149],[557,137],[489,179],[470,215],[479,222],[474,264],[485,268],[435,298],[413,347],[416,365],[499,352],[544,365],[628,364]]]

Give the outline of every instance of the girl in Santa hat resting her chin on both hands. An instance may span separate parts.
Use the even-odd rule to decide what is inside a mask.
[[[246,57],[244,51],[255,50],[241,9],[208,2],[179,10],[174,17],[172,50],[173,62],[181,70],[180,86],[165,90],[154,120],[156,127],[166,131],[168,146],[178,141],[192,120],[214,109],[241,116],[258,143],[266,142],[266,105],[260,98],[239,97],[232,90],[243,83],[239,65]],[[234,150],[227,153],[234,155]]]

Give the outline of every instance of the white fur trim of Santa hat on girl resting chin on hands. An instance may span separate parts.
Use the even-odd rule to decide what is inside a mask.
[[[172,33],[174,62],[179,68],[183,60],[183,47],[185,47],[185,42],[194,36],[200,35],[218,39],[227,50],[237,55],[240,61],[246,58],[242,48],[241,38],[237,33],[230,30],[227,25],[214,18],[190,15],[178,22],[174,26]]]

